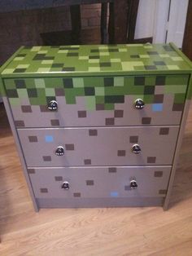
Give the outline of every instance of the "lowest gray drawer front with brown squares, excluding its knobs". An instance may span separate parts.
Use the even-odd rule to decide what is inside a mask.
[[[76,199],[165,196],[170,171],[171,166],[28,169],[37,198]],[[130,186],[133,180],[136,189]]]

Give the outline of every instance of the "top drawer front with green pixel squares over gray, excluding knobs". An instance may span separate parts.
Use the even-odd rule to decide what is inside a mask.
[[[178,125],[188,75],[4,79],[16,127]],[[135,108],[142,99],[144,108]],[[49,110],[50,101],[57,102]]]

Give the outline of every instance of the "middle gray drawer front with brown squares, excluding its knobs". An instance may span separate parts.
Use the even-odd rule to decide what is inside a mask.
[[[179,126],[18,129],[28,166],[171,165]],[[141,152],[133,153],[138,144]],[[55,151],[63,147],[63,156]],[[139,149],[139,148],[138,148]]]

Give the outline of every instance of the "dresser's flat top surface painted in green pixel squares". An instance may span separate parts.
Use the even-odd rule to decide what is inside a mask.
[[[24,46],[2,70],[2,76],[48,73],[89,76],[190,69],[189,62],[171,44]]]

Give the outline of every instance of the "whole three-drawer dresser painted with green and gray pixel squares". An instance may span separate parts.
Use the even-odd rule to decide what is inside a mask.
[[[1,95],[35,210],[168,208],[191,98],[173,44],[24,46]]]

